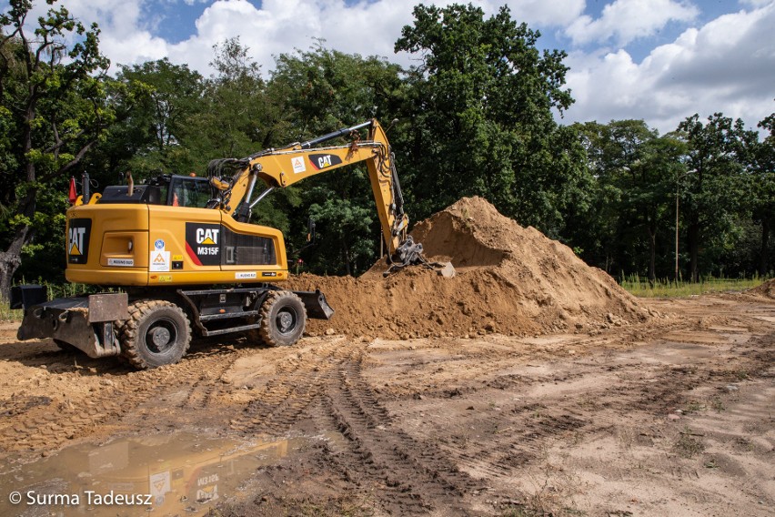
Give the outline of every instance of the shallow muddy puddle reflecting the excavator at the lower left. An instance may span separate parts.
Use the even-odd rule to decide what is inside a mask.
[[[202,515],[262,466],[309,440],[240,442],[189,433],[82,444],[3,467],[0,515]]]

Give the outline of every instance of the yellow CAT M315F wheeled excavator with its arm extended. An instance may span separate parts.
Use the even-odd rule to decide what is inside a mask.
[[[324,145],[340,137],[350,142]],[[408,236],[393,158],[372,119],[250,157],[213,160],[208,177],[164,175],[140,185],[130,178],[93,195],[86,178],[67,210],[65,277],[115,292],[45,301],[45,289],[19,286],[11,300],[25,309],[18,338],[52,338],[93,358],[123,355],[138,369],[177,362],[192,333],[251,330],[267,345],[292,345],[307,317],[328,319],[333,309],[319,290],[274,285],[288,279],[285,241],[276,228],[250,224],[251,210],[275,188],[366,162],[391,269],[427,264],[422,245]],[[266,188],[254,197],[259,180]]]

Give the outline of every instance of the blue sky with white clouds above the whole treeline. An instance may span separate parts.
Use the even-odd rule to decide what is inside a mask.
[[[60,0],[102,28],[114,63],[168,57],[209,75],[212,46],[239,36],[265,73],[274,56],[314,38],[364,56],[395,55],[412,0]],[[448,5],[438,1],[436,5]],[[564,121],[642,118],[665,133],[699,113],[723,112],[755,127],[775,111],[775,0],[500,0],[538,29],[539,46],[569,56],[576,98]],[[42,12],[45,2],[35,9]],[[7,6],[7,1],[0,2]]]

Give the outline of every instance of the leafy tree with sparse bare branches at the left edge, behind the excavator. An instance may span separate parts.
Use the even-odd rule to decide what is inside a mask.
[[[38,210],[41,193],[61,191],[60,203],[64,201],[67,173],[95,146],[113,117],[106,103],[109,62],[99,53],[97,26],[86,29],[60,6],[38,18],[31,35],[26,18],[32,2],[11,0],[9,4],[0,15],[0,117],[5,130],[0,146],[4,167],[0,228],[5,249],[0,251],[0,297],[4,299],[36,228],[51,223]],[[75,43],[68,46],[68,38]]]

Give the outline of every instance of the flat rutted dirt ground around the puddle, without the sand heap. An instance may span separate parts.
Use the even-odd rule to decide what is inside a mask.
[[[20,343],[4,324],[2,486],[50,481],[25,472],[79,444],[186,433],[297,441],[189,512],[772,515],[775,302],[649,306],[664,317],[536,338],[199,341],[150,371]]]

